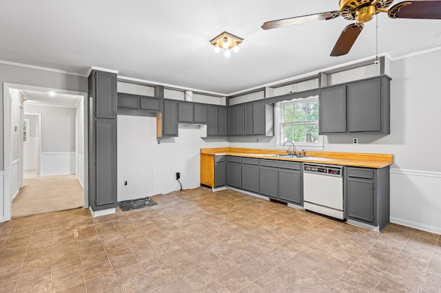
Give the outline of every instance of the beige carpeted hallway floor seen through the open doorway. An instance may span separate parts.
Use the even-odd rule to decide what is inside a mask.
[[[25,178],[24,185],[12,202],[12,217],[70,210],[84,204],[76,175]]]

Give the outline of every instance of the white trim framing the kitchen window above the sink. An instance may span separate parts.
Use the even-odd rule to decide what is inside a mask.
[[[308,100],[316,100],[318,98],[318,96],[311,96],[308,98],[297,98],[297,99],[292,99],[292,100],[285,100],[283,102],[277,102],[274,105],[274,128],[276,131],[276,148],[277,149],[289,149],[289,146],[291,146],[291,144],[285,144],[285,146],[283,146],[283,144],[280,143],[280,139],[282,136],[282,130],[280,129],[280,121],[282,120],[282,106],[284,104],[287,104],[289,102],[293,102],[295,100],[302,100],[307,102]],[[323,135],[318,135],[318,143],[316,144],[311,144],[311,143],[299,143],[296,142],[294,143],[294,145],[296,146],[296,150],[309,150],[309,151],[320,151],[323,150]]]

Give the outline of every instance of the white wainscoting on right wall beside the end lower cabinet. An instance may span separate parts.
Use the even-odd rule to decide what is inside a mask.
[[[390,221],[441,234],[441,173],[391,169]]]

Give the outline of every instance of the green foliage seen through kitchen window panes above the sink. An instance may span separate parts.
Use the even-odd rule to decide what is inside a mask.
[[[281,143],[318,143],[318,99],[282,104]]]

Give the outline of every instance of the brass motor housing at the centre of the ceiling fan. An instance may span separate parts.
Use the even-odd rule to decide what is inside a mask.
[[[340,0],[339,4],[342,18],[363,23],[372,19],[376,8],[386,9],[392,2],[393,0]],[[369,6],[371,8],[366,8]]]

